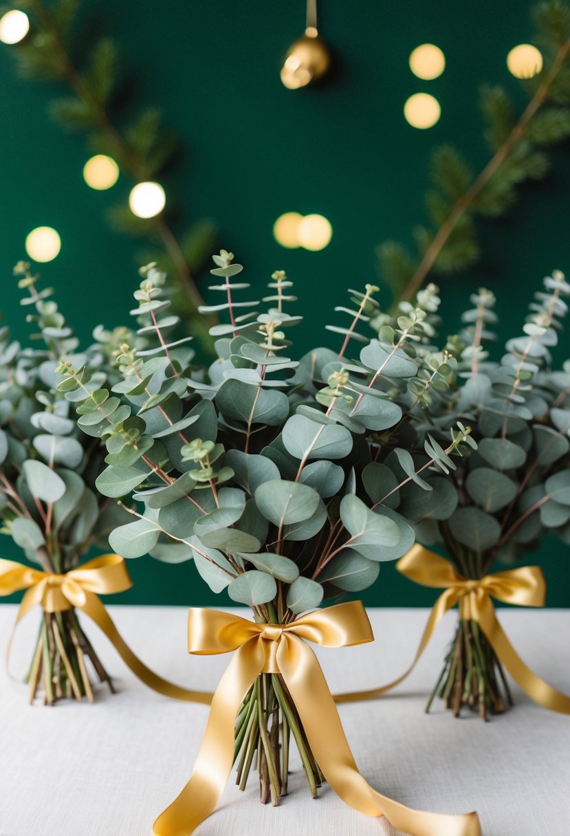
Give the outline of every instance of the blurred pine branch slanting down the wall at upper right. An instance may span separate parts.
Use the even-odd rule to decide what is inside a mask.
[[[435,187],[425,196],[431,228],[416,227],[419,257],[388,242],[379,247],[381,272],[395,299],[411,299],[432,271],[465,269],[480,256],[474,218],[499,217],[517,199],[516,186],[540,180],[549,159],[540,146],[570,136],[570,9],[551,0],[534,14],[542,29],[545,61],[542,73],[527,81],[531,99],[517,118],[510,97],[501,87],[481,90],[486,140],[491,160],[473,176],[459,151],[444,145],[432,155],[430,180]]]

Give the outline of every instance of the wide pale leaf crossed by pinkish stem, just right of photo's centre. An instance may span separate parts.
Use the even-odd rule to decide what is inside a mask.
[[[292,415],[282,429],[282,442],[291,456],[310,459],[343,459],[353,447],[345,426],[319,424],[306,415]]]

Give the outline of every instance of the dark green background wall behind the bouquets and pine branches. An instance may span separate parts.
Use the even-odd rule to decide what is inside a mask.
[[[387,237],[408,241],[422,219],[421,195],[431,145],[461,145],[475,165],[486,161],[476,108],[481,82],[517,81],[506,54],[532,36],[521,0],[400,0],[341,3],[322,0],[323,35],[338,57],[333,79],[321,88],[286,90],[279,80],[282,54],[303,30],[303,3],[217,3],[196,0],[88,0],[82,18],[89,35],[113,33],[120,43],[139,104],[160,104],[166,125],[181,136],[185,155],[169,178],[187,217],[211,217],[221,245],[247,266],[262,286],[275,268],[286,268],[309,312],[298,331],[299,349],[329,339],[344,288],[375,280],[374,247]],[[436,43],[447,60],[435,81],[416,79],[411,49]],[[109,232],[104,211],[130,184],[91,191],[82,180],[88,154],[82,141],[48,120],[53,89],[18,79],[10,47],[0,44],[0,275],[1,307],[15,334],[26,329],[11,268],[23,257],[26,234],[40,225],[59,230],[63,246],[43,275],[84,339],[95,324],[125,320],[136,281],[137,245]],[[415,92],[434,94],[438,125],[415,130],[402,107]],[[520,101],[524,97],[520,94]],[[123,116],[128,117],[128,112]],[[553,267],[570,273],[568,147],[554,154],[550,176],[525,186],[504,221],[481,227],[484,259],[471,273],[441,281],[450,331],[461,307],[481,284],[498,298],[501,336],[518,333],[533,288]],[[169,191],[170,188],[170,191]],[[323,252],[286,251],[272,239],[282,212],[319,212],[333,224]],[[387,296],[384,296],[387,298]],[[549,604],[570,605],[568,549],[549,542],[541,555]],[[190,565],[165,566],[144,558],[130,563],[132,603],[213,603]],[[369,604],[429,604],[433,593],[382,568]]]

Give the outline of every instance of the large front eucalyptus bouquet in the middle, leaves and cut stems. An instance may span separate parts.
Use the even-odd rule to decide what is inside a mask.
[[[125,558],[193,559],[211,589],[227,589],[258,623],[288,624],[323,601],[367,588],[380,562],[414,543],[407,519],[392,507],[400,481],[386,480],[372,460],[403,419],[392,395],[416,375],[413,344],[428,326],[421,311],[413,314],[389,349],[354,324],[331,326],[344,337],[340,353],[317,348],[292,359],[288,333],[301,317],[286,312],[296,298],[285,273],[272,274],[262,299],[267,313],[258,314],[258,302],[237,301],[249,285],[234,280],[242,267],[232,253],[213,258],[220,283],[211,290],[223,301],[201,309],[229,321],[210,330],[217,357],[207,370],[192,364],[187,339],[168,341],[178,319],[167,314],[164,274],[150,265],[141,270],[131,314],[139,337],[155,345],[138,350],[125,341],[117,355],[122,380],[110,390],[69,359],[59,391],[79,404],[79,424],[106,445],[99,492],[139,503],[123,506],[136,519],[115,528],[111,547]],[[374,314],[377,289],[351,292],[357,319]],[[348,363],[351,339],[365,345]],[[446,385],[450,367],[437,363]],[[462,427],[445,449],[434,441],[430,467],[446,470],[466,441]],[[407,451],[393,453],[406,470],[403,482],[420,479]],[[298,711],[282,676],[262,674],[235,728],[241,788],[256,758],[262,800],[278,803],[287,792],[291,735],[314,796],[321,773]]]

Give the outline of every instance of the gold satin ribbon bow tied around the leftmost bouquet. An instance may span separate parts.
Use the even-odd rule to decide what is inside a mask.
[[[18,609],[14,629],[36,604],[39,604],[46,613],[60,613],[76,607],[89,615],[89,618],[93,619],[95,624],[103,630],[111,644],[115,645],[115,649],[125,664],[146,686],[152,688],[153,691],[158,691],[159,694],[171,696],[175,700],[209,705],[211,694],[203,691],[189,691],[162,679],[147,668],[121,638],[115,623],[98,596],[124,592],[132,585],[125,560],[118,554],[103,554],[65,574],[43,572],[40,569],[24,566],[23,563],[0,559],[0,596],[26,589]],[[12,640],[8,642],[7,660],[11,643]]]

